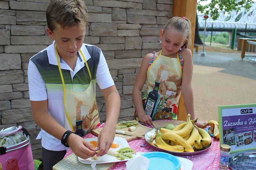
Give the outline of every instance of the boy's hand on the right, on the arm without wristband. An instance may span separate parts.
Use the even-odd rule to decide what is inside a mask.
[[[105,124],[103,129],[100,131],[98,136],[98,148],[99,152],[97,153],[97,157],[105,155],[111,145],[113,144],[114,138],[116,133],[116,124],[115,126],[111,127]]]

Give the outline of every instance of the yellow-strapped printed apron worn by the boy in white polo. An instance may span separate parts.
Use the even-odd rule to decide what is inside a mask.
[[[87,61],[85,60],[84,54],[81,50],[79,50],[83,56],[84,62],[90,75],[90,85],[84,92],[76,92],[66,89],[60,68],[60,60],[56,44],[55,51],[64,92],[63,98],[66,114],[65,128],[82,137],[96,126],[100,125],[100,117],[96,103],[96,97],[92,87],[92,76],[90,69],[88,67]]]

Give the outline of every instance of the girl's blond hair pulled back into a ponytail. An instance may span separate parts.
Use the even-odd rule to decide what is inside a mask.
[[[167,30],[167,28],[175,28],[176,30],[180,31],[184,35],[184,39],[188,39],[184,46],[186,46],[186,48],[191,47],[191,23],[188,18],[172,17],[164,25],[164,31]]]

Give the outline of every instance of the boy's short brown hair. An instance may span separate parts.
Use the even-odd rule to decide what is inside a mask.
[[[56,24],[87,27],[87,9],[82,0],[52,0],[46,9],[47,26],[54,31]]]

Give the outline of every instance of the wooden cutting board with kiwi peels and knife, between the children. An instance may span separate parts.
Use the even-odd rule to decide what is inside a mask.
[[[116,126],[118,126],[118,124],[117,124]],[[139,124],[138,126],[139,126],[139,127],[137,127],[136,131],[132,131],[132,132],[129,131],[128,128],[119,129],[119,130],[121,130],[121,131],[126,131],[126,132],[133,133],[133,134],[137,134],[137,135],[143,135],[143,136],[144,136],[147,131],[149,131],[150,129],[152,129],[152,128],[143,126],[143,125],[141,125],[141,124]],[[102,129],[102,128],[93,129],[93,130],[92,130],[92,134],[95,135],[95,136],[99,136],[101,129]],[[127,140],[127,142],[130,142],[130,141],[132,141],[132,140],[139,139],[139,137],[136,137],[136,136],[129,136],[129,135],[123,135],[123,134],[117,134],[117,133],[116,133],[115,137],[124,138],[125,140]]]

